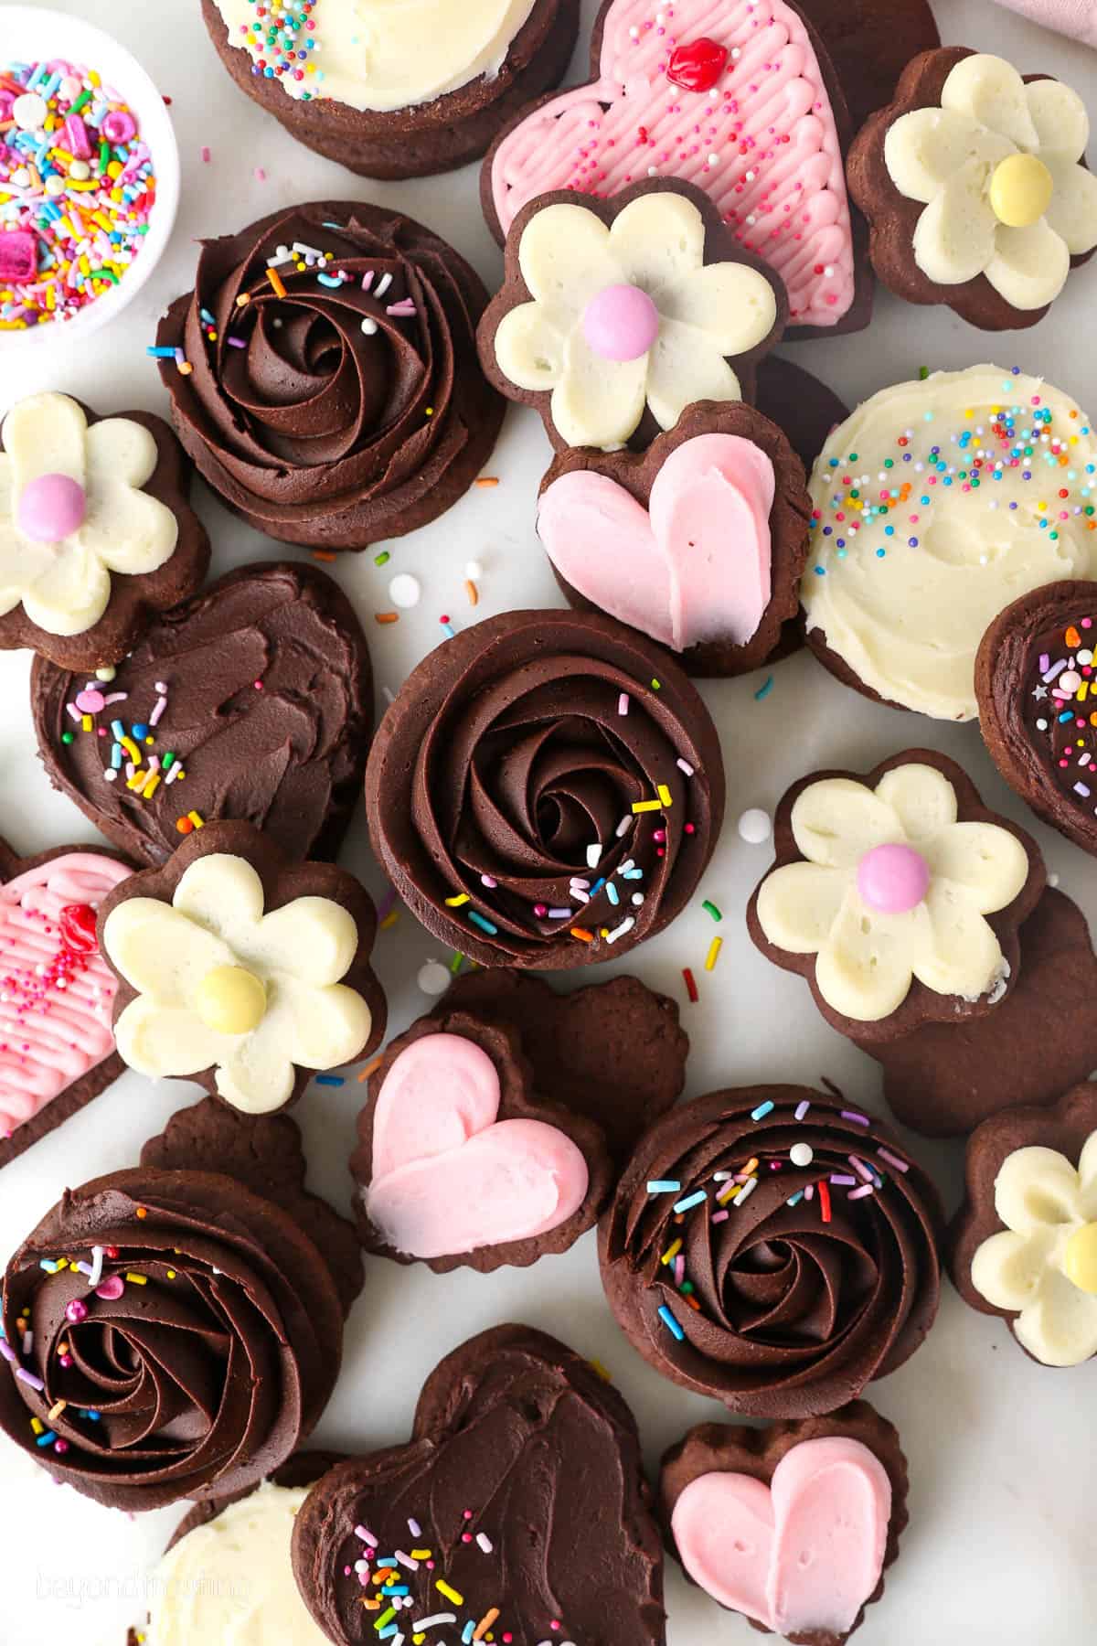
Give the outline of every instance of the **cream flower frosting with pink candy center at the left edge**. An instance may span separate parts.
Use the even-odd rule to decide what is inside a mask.
[[[141,423],[89,426],[67,395],[20,400],[0,453],[0,616],[21,604],[48,634],[84,634],[107,611],[112,571],[163,566],[179,523],[141,491],[156,461]]]

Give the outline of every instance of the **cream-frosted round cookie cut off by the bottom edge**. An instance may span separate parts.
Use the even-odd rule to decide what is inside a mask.
[[[309,1486],[340,1462],[336,1452],[294,1452],[253,1490],[187,1509],[153,1574],[146,1638],[242,1646],[250,1631],[278,1646],[326,1646],[294,1582],[289,1541]],[[138,1646],[137,1631],[127,1646]]]

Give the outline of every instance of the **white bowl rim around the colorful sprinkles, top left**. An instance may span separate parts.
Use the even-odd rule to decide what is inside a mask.
[[[148,217],[148,234],[138,257],[117,286],[89,303],[72,319],[26,331],[0,332],[0,354],[15,356],[35,344],[82,342],[133,301],[164,253],[179,209],[179,145],[163,95],[125,46],[79,16],[44,12],[35,5],[0,5],[0,63],[35,63],[67,58],[102,74],[137,115],[156,168],[156,201]]]

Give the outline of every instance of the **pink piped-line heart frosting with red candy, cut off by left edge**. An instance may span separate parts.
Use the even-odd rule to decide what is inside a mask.
[[[62,910],[97,909],[130,872],[72,851],[0,887],[0,1134],[113,1052],[118,983],[94,943],[66,940]]]

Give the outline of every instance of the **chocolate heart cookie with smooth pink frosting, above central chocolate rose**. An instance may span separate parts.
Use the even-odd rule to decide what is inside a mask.
[[[681,655],[743,675],[799,611],[811,497],[781,430],[753,407],[701,403],[645,453],[561,453],[538,535],[579,611],[605,611]]]

